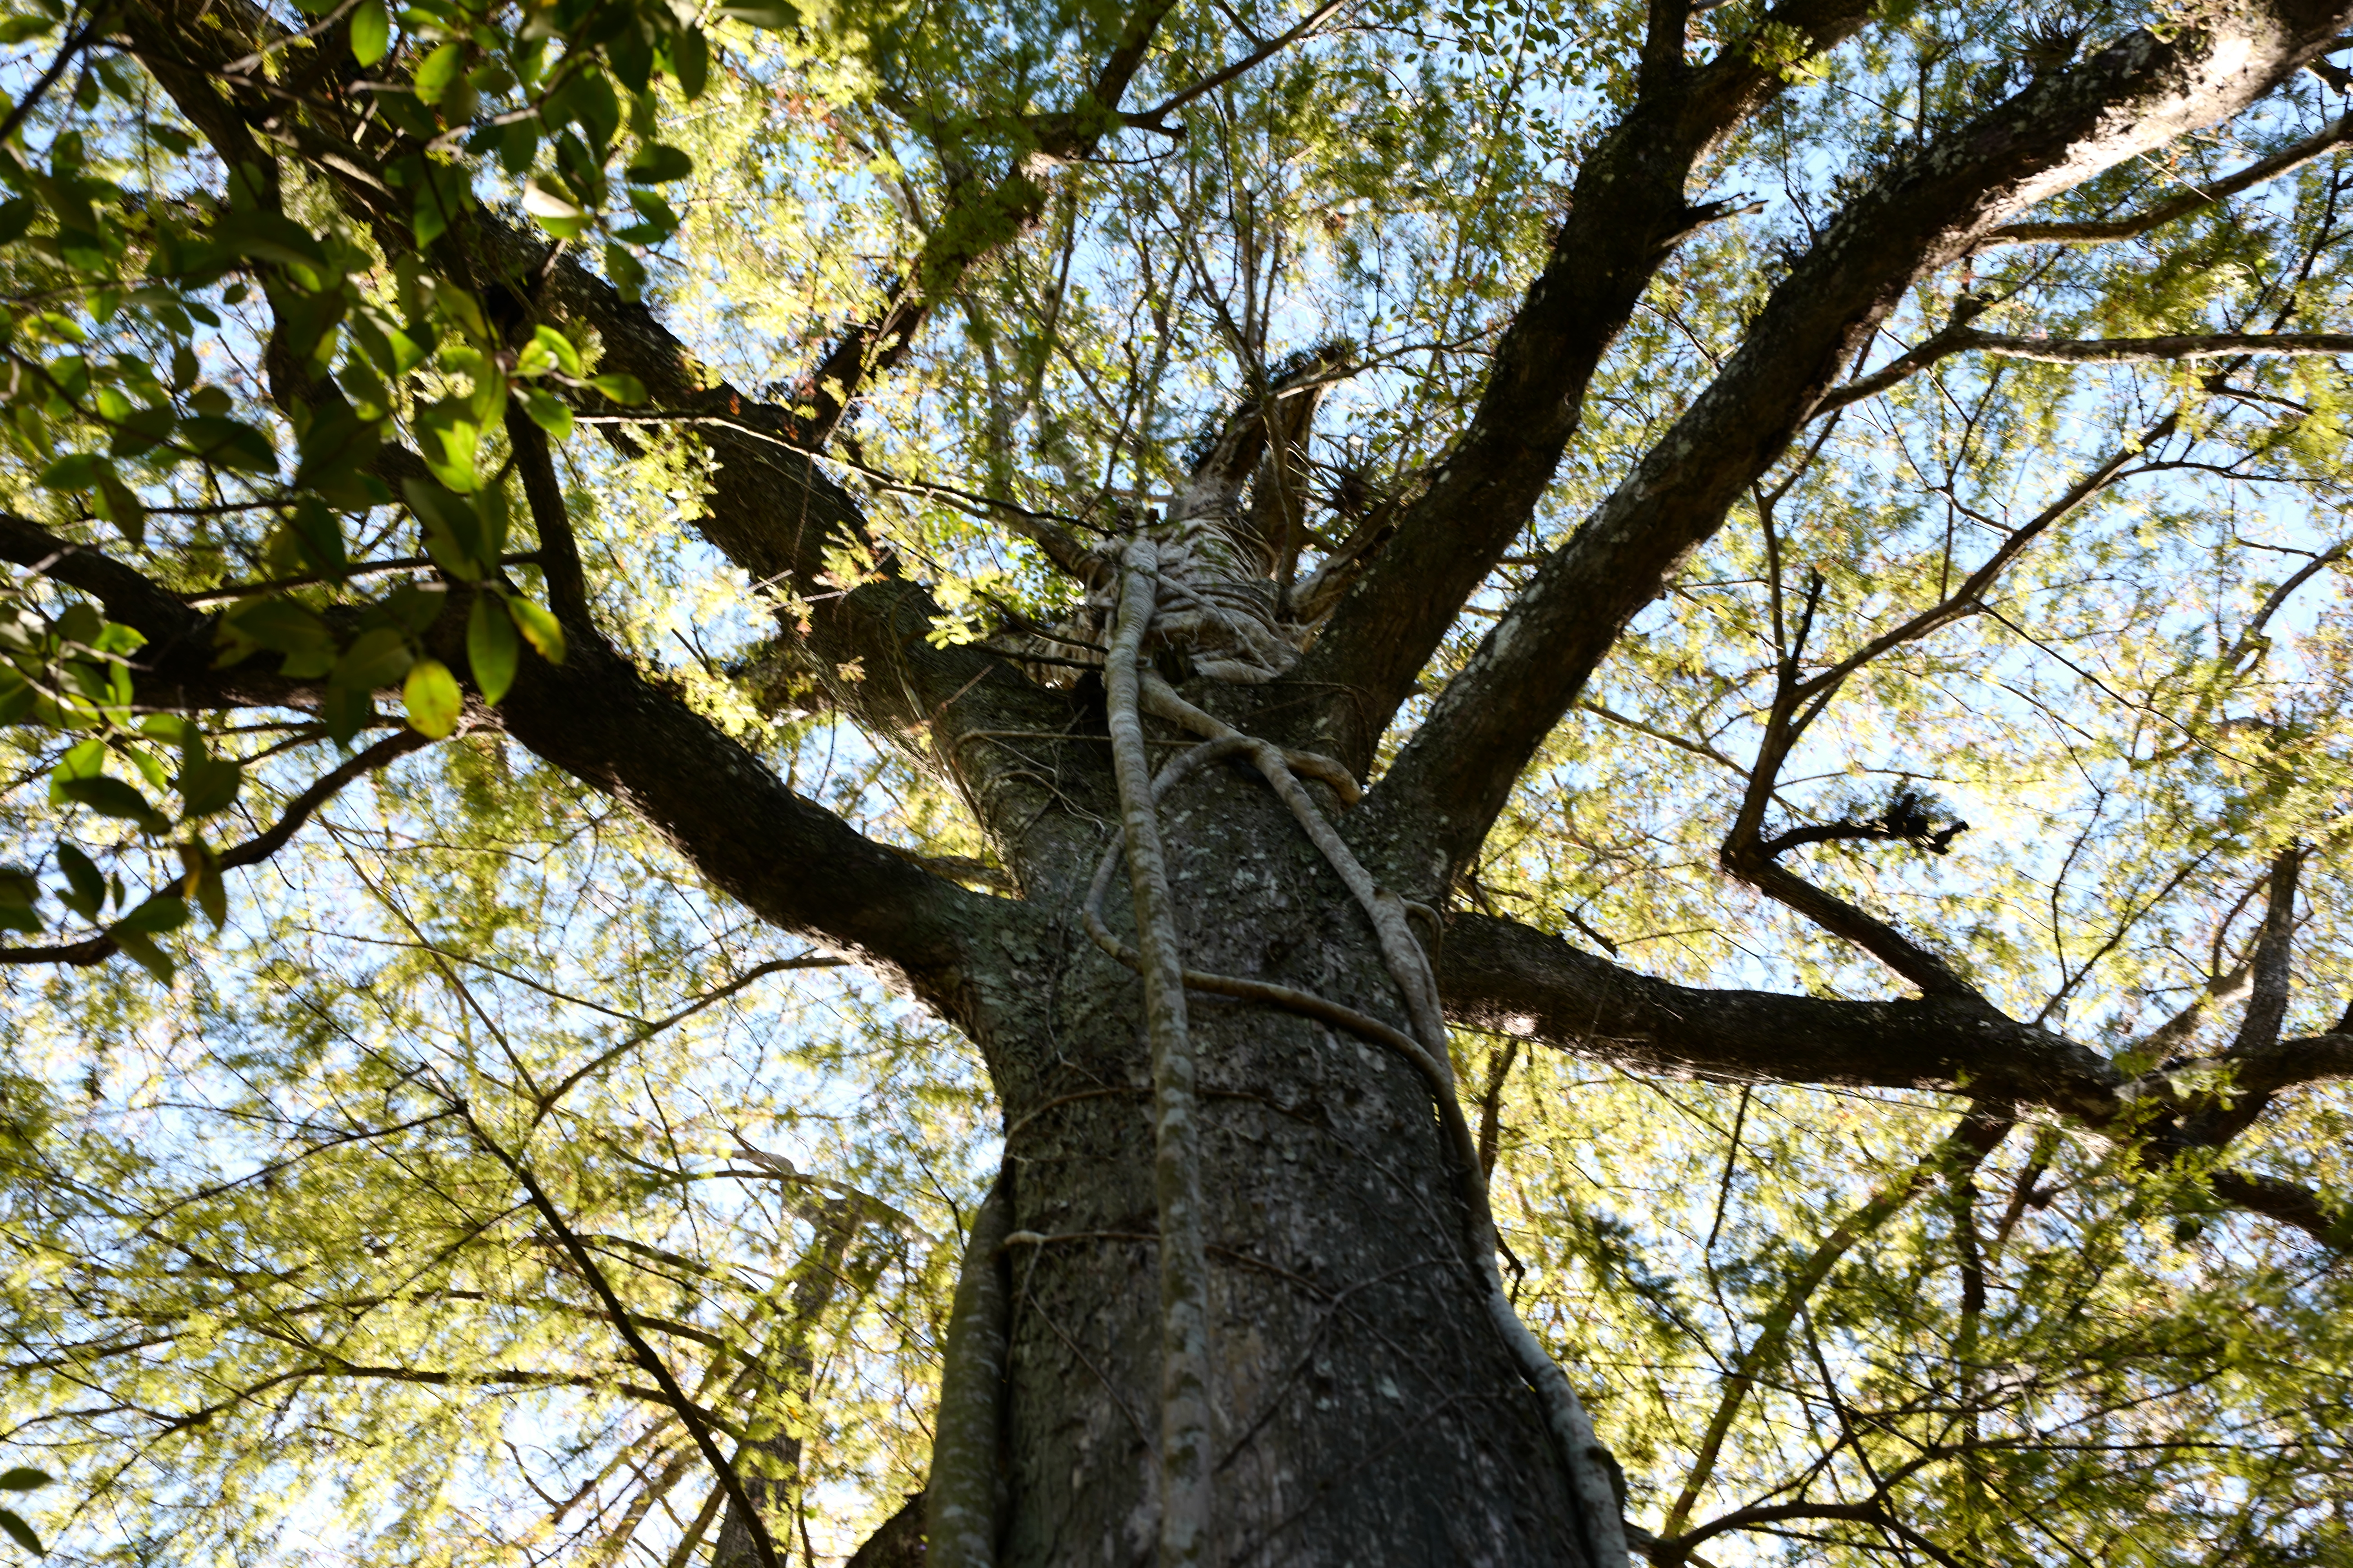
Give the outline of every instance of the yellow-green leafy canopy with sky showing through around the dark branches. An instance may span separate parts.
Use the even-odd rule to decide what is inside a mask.
[[[866,672],[776,654],[809,592],[696,531],[696,421],[741,409],[654,407],[607,343],[527,320],[464,221],[584,261],[706,386],[802,421],[835,395],[809,367],[918,277],[932,317],[826,447],[871,522],[828,592],[908,574],[936,642],[1012,649],[1082,595],[1031,524],[1094,538],[1162,503],[1299,355],[1346,362],[1308,559],[1414,494],[1635,92],[1647,7],[1367,2],[1195,94],[1299,14],[1176,5],[1122,115],[1089,94],[1132,24],[1108,0],[249,7],[209,78],[134,9],[0,16],[0,508],[216,611],[212,670],[320,691],[167,703],[134,679],[167,651],[120,607],[54,562],[0,588],[0,931],[24,938],[0,1429],[66,1476],[35,1523],[59,1561],[689,1561],[720,1493],[513,1159],[729,1439],[795,1439],[793,1549],[842,1556],[922,1483],[988,1091],[944,1025],[501,733],[532,661],[579,656],[532,451],[614,649],[871,837],[979,877],[991,846],[939,771],[828,703]],[[1828,54],[1758,5],[1692,19],[1694,59],[1751,49],[1786,80],[1704,167],[1762,205],[1652,280],[1426,686],[1861,183],[2162,12],[2078,12],[2066,38],[1885,5]],[[289,103],[332,75],[405,150],[336,186],[336,148],[304,143],[332,127],[249,125],[226,87],[191,115],[176,71]],[[2339,99],[2297,78],[2049,214],[2214,183]],[[2118,244],[1988,247],[1885,334],[2344,327],[2348,197],[2322,155]],[[1459,905],[1675,980],[1901,994],[1718,870],[1784,665],[1875,649],[1765,780],[1769,825],[1908,790],[1967,830],[1948,853],[1826,842],[1809,875],[2012,1016],[2129,1056],[2226,990],[2297,842],[2289,1027],[2327,1030],[2353,983],[2344,395],[2334,357],[1955,355],[1814,418],[1551,733]],[[1998,585],[1906,632],[2092,473]],[[456,623],[464,656],[433,632]],[[360,750],[402,726],[438,745]],[[2344,1265],[2193,1164],[2057,1119],[1979,1159],[1951,1095],[1673,1081],[1471,1032],[1457,1056],[1522,1309],[1593,1385],[1638,1523],[1812,1486],[1887,1521],[1704,1554],[2353,1554]],[[2348,1150],[2353,1100],[2306,1086],[2235,1157],[2344,1201]]]

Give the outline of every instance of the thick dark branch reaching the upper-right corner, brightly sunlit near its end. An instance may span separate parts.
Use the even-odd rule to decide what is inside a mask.
[[[2134,33],[1937,139],[1857,197],[1774,289],[1741,348],[1635,473],[1555,550],[1438,698],[1377,792],[1438,818],[1428,863],[1475,853],[1534,748],[1689,550],[1781,456],[1911,282],[2009,214],[2226,120],[2337,35],[2318,0]],[[1424,856],[1417,856],[1424,858]]]

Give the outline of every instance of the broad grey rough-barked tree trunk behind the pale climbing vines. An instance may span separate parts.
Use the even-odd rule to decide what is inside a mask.
[[[1374,933],[1242,766],[1160,806],[1186,964],[1407,1027]],[[1092,865],[1087,867],[1092,870]],[[1033,889],[1033,898],[1038,891]],[[1000,1563],[1148,1563],[1158,1279],[1141,983],[1061,896],[1038,1039],[991,1041],[1014,1237]],[[1104,917],[1127,931],[1125,889]],[[1581,1528],[1482,1312],[1424,1079],[1327,1025],[1195,992],[1214,1340],[1214,1561],[1565,1563]]]

